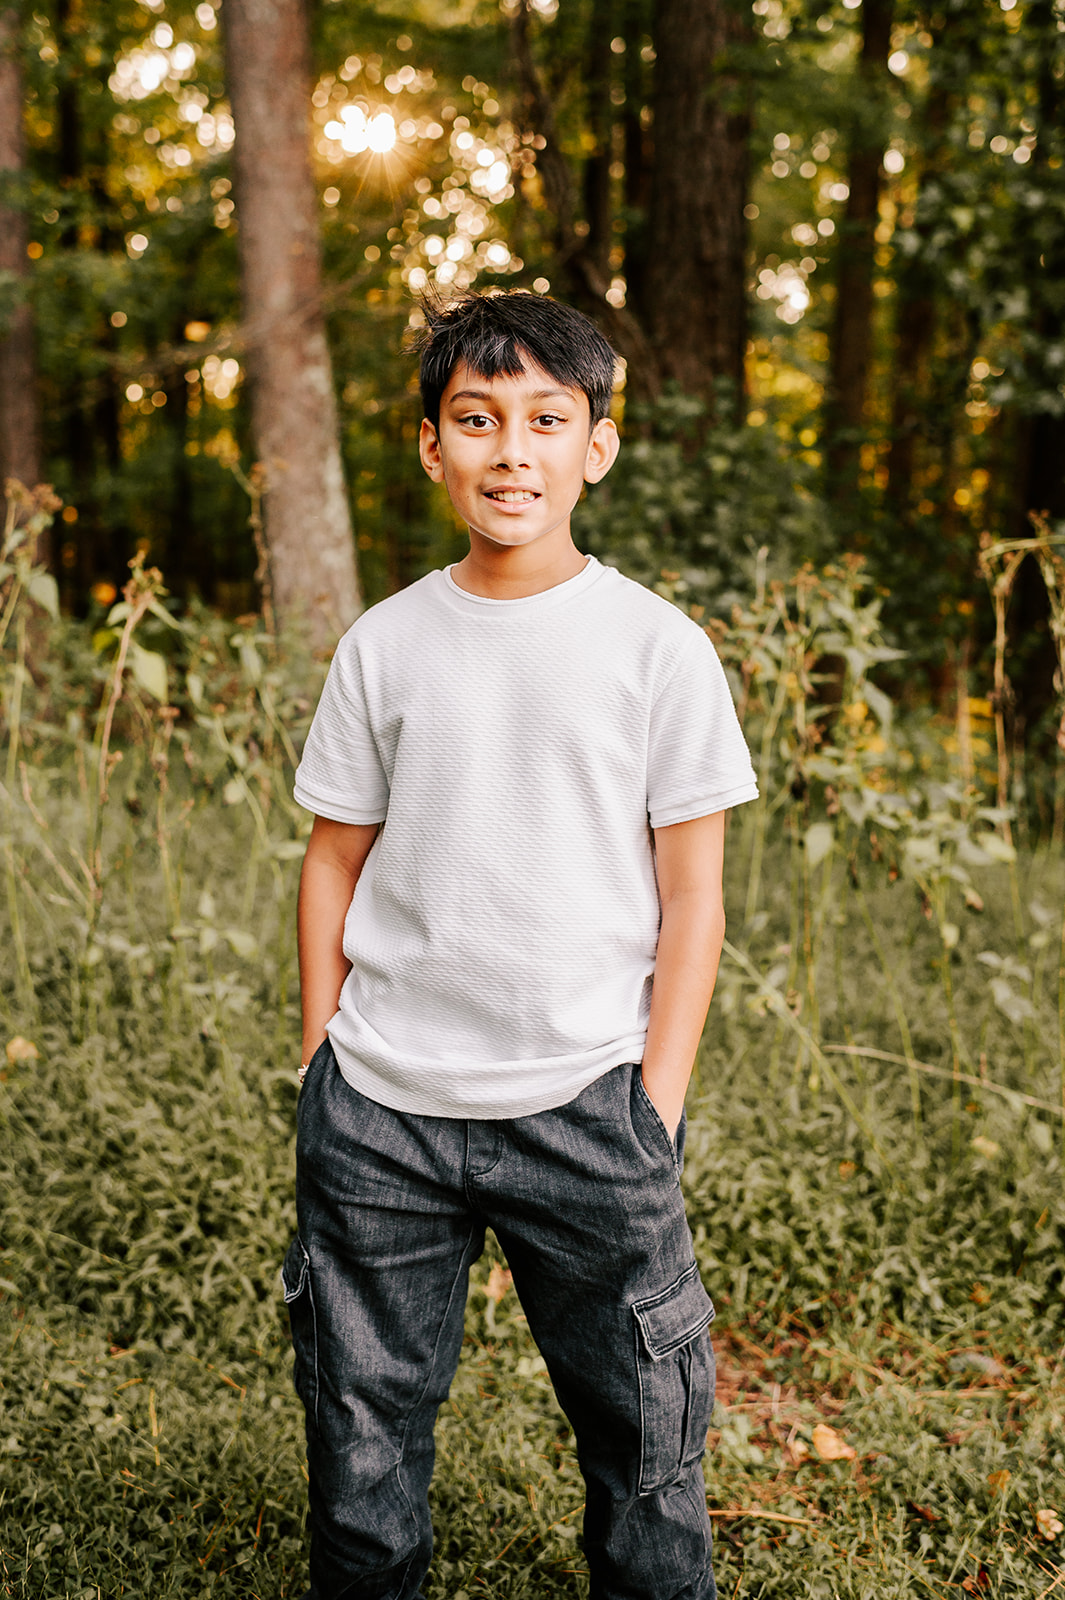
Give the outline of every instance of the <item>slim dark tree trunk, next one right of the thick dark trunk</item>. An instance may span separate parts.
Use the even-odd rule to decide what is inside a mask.
[[[865,0],[857,115],[848,162],[849,195],[836,251],[836,315],[828,349],[825,435],[828,485],[836,496],[857,483],[873,352],[873,269],[880,218],[888,56],[894,0]]]

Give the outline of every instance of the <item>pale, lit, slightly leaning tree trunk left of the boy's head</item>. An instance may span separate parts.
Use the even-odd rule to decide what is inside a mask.
[[[237,125],[243,339],[265,472],[273,603],[283,621],[302,621],[313,643],[326,646],[360,600],[321,312],[307,5],[225,0],[222,18]]]

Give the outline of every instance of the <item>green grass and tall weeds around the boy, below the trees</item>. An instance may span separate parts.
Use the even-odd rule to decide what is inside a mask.
[[[856,582],[832,626],[851,618],[873,659]],[[93,658],[61,632],[29,672],[13,594],[0,1595],[301,1595],[278,1269],[305,819],[285,741],[313,669],[251,624],[174,630],[146,602],[158,661],[130,616],[115,627],[147,686],[107,664],[117,635]],[[1047,1600],[1065,1595],[1060,840],[1001,845],[942,730],[889,739],[860,678],[811,736],[804,662],[836,646],[785,630],[774,658],[777,624],[798,627],[785,598],[742,624],[756,650],[740,624],[726,640],[764,800],[732,824],[732,954],[689,1098],[718,1582]],[[179,714],[150,690],[171,635]],[[489,1242],[438,1426],[427,1600],[587,1592],[568,1438]]]

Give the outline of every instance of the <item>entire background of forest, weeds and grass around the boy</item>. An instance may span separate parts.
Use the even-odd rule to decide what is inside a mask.
[[[464,549],[403,341],[469,286],[614,341],[579,542],[758,770],[721,1594],[1062,1586],[1063,86],[1065,0],[0,0],[3,1595],[305,1589],[293,771]],[[427,1600],[587,1594],[566,1437],[491,1245]]]

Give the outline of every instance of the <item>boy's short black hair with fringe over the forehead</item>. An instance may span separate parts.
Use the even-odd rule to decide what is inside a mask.
[[[433,427],[440,426],[440,398],[462,363],[480,378],[517,378],[531,360],[564,389],[588,397],[592,426],[609,414],[614,350],[572,306],[510,290],[448,301],[427,294],[421,307],[425,326],[413,342],[421,352],[422,405]]]

